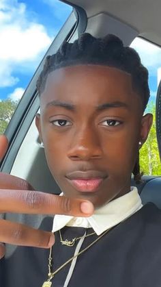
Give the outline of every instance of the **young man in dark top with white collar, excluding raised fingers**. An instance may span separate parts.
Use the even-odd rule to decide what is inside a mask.
[[[10,249],[4,287],[160,286],[160,210],[143,207],[130,187],[152,123],[143,116],[147,80],[138,54],[112,35],[83,34],[47,58],[36,116],[46,160],[63,195],[90,201],[95,212],[36,218],[53,225],[55,245],[50,253]]]

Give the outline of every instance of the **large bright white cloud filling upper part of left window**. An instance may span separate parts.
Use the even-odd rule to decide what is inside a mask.
[[[40,23],[31,21],[24,3],[0,1],[0,87],[14,86],[15,69],[34,71],[51,38]]]

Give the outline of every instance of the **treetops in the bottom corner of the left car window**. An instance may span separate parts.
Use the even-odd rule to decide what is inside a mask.
[[[18,101],[12,101],[11,99],[0,101],[0,134],[5,132],[17,105]]]

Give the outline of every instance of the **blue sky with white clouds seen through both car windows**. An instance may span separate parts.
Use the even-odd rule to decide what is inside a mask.
[[[0,0],[0,100],[20,99],[71,11],[58,0]],[[138,39],[132,47],[149,69],[151,99],[155,99],[161,51]]]

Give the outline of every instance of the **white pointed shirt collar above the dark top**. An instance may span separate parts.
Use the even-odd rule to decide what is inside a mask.
[[[64,226],[70,227],[92,227],[97,235],[105,230],[114,227],[127,219],[140,208],[142,208],[141,197],[138,195],[136,187],[126,195],[106,203],[106,205],[95,210],[90,217],[74,217],[68,215],[55,215],[53,221],[53,232],[57,232]]]

